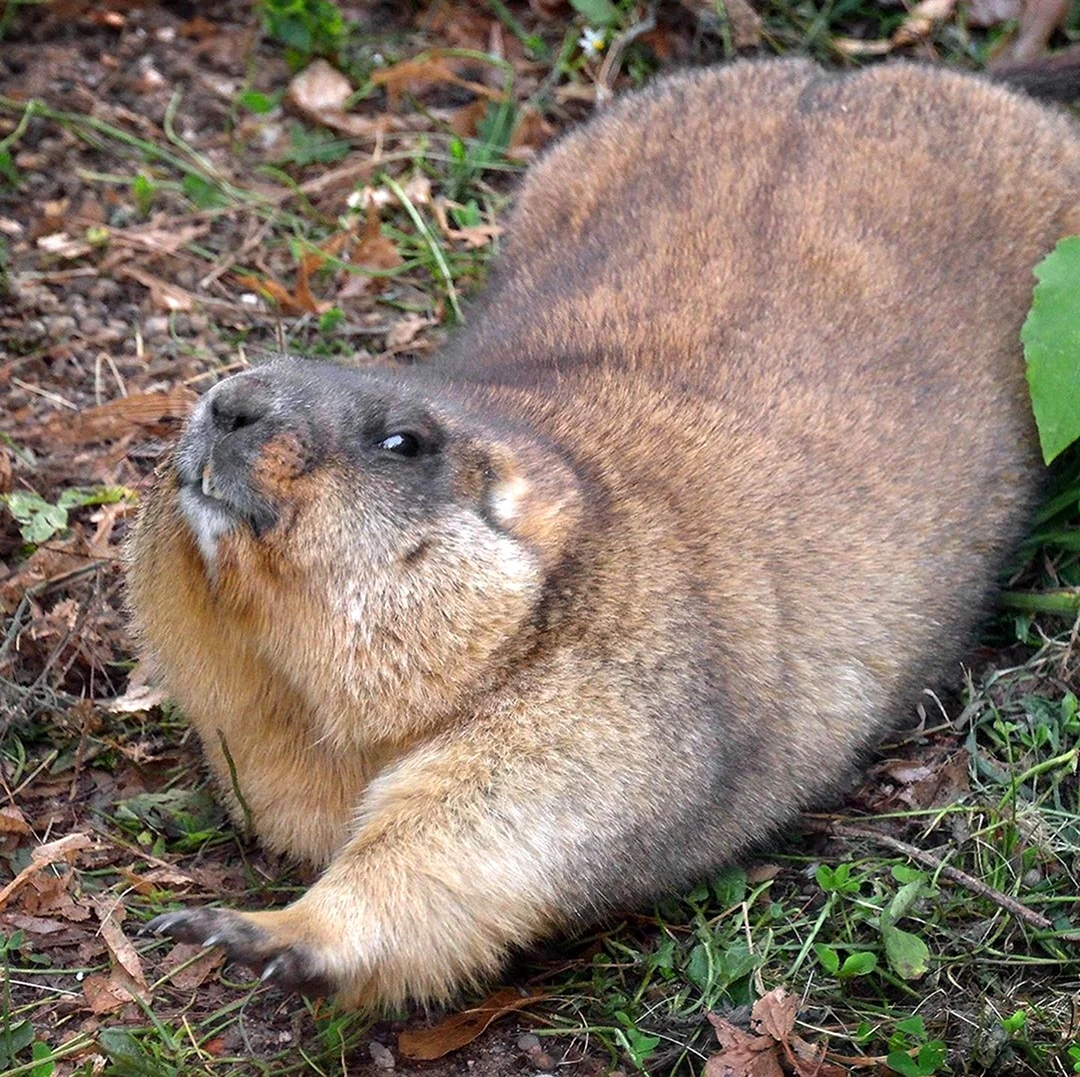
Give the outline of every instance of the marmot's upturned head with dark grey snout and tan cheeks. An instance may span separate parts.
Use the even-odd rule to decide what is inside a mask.
[[[135,541],[148,643],[200,631],[147,616],[170,602],[148,577],[201,574],[204,616],[247,636],[333,736],[368,717],[367,741],[499,677],[580,513],[550,446],[414,369],[286,360],[228,378],[171,467]]]

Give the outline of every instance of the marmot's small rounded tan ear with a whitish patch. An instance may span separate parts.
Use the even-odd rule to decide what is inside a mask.
[[[550,567],[581,520],[578,476],[558,454],[527,442],[494,446],[489,460],[485,498],[491,521],[531,547]]]

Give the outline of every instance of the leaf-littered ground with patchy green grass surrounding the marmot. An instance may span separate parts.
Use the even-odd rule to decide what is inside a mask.
[[[198,394],[272,351],[423,362],[515,177],[610,93],[737,53],[977,68],[1045,8],[0,0],[0,1072],[1080,1072],[1067,472],[968,667],[832,813],[374,1025],[139,935],[308,879],[225,820],[123,597]]]

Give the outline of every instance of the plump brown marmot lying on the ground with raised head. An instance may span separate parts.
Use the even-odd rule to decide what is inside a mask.
[[[282,360],[146,503],[145,650],[325,865],[152,927],[348,1006],[688,887],[955,674],[1042,485],[1064,115],[919,66],[677,75],[565,137],[434,362]]]

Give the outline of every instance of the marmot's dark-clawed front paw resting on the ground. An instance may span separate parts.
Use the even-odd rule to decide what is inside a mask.
[[[229,958],[259,973],[264,982],[312,997],[333,993],[314,951],[275,929],[273,913],[237,913],[228,908],[186,908],[156,916],[146,931],[177,942],[220,946]],[[257,923],[256,917],[264,921]]]

